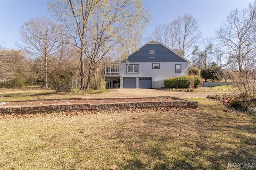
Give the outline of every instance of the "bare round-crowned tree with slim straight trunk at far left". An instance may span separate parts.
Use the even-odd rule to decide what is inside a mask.
[[[17,43],[18,47],[44,62],[44,88],[48,88],[48,60],[61,44],[60,32],[60,26],[45,16],[32,19],[20,28],[22,43]]]

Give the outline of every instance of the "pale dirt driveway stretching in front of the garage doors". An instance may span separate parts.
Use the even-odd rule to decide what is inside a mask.
[[[81,98],[145,98],[171,96],[176,98],[205,98],[208,95],[232,94],[228,92],[174,92],[156,89],[110,89],[106,94],[91,94]]]

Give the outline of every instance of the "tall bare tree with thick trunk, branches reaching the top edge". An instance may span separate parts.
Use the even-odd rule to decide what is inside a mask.
[[[80,50],[81,90],[86,89],[84,80],[84,46],[86,44],[87,27],[91,16],[98,9],[100,0],[63,0],[49,4],[50,10],[65,26],[65,30],[73,40],[73,45]]]

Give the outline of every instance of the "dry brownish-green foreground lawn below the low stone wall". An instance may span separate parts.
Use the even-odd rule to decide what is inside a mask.
[[[207,98],[200,109],[0,119],[0,169],[242,169],[256,164],[256,121]]]

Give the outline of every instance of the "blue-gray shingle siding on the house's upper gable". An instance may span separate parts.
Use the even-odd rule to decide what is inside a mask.
[[[149,57],[149,50],[155,50],[155,57]],[[128,57],[129,63],[134,62],[187,62],[182,57],[176,55],[161,44],[146,44],[139,51],[136,51]],[[123,63],[126,61],[122,61]]]

